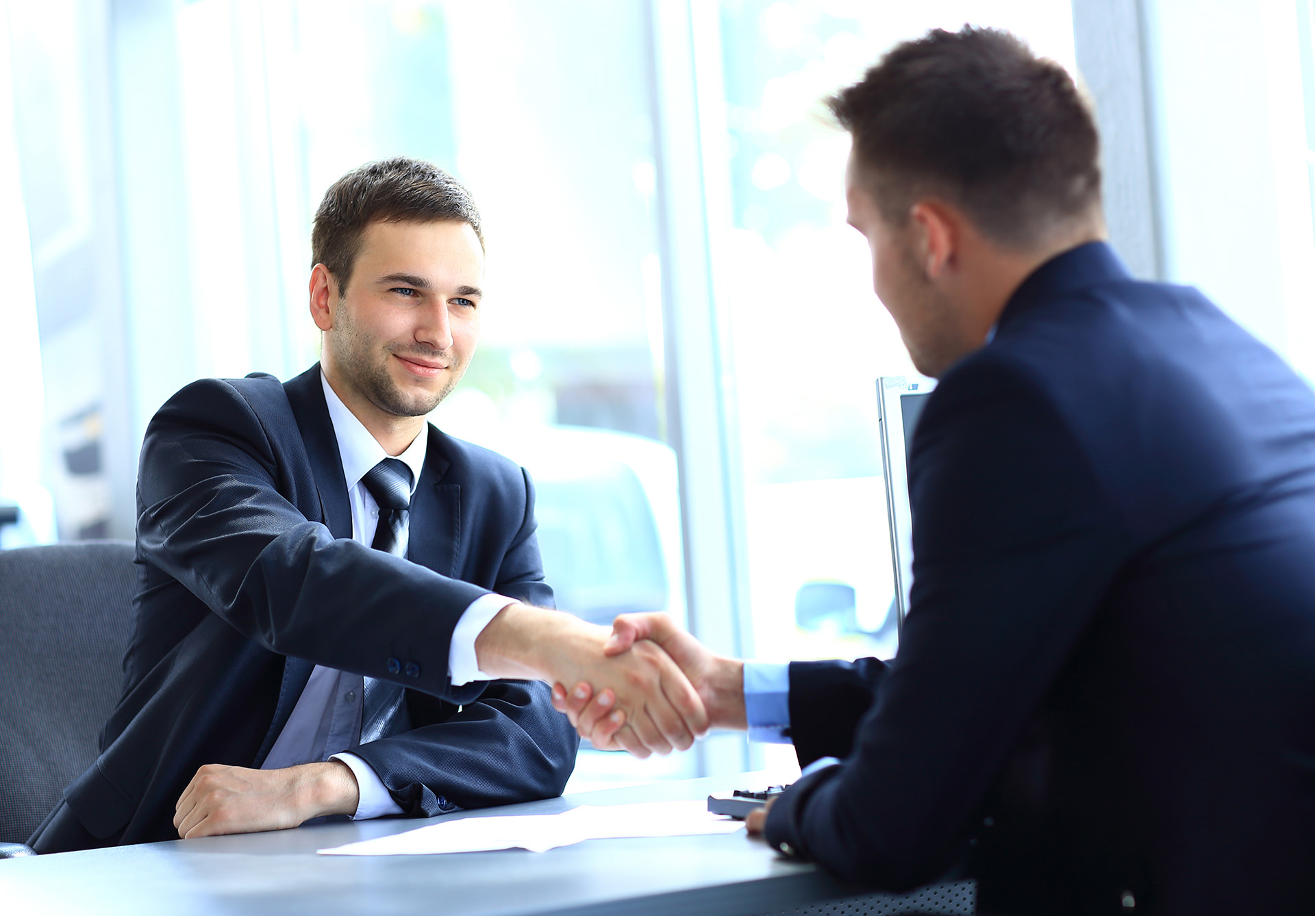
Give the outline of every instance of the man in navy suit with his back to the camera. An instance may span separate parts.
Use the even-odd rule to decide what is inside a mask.
[[[714,725],[843,758],[750,829],[846,879],[967,862],[981,912],[1310,911],[1315,396],[1128,276],[1091,114],[1011,35],[899,45],[831,109],[876,292],[939,378],[897,657],[755,665],[660,615],[611,651],[655,639]],[[605,746],[596,693],[554,702]]]

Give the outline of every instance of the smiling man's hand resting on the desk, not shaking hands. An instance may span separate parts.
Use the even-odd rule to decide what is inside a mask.
[[[184,840],[218,833],[281,831],[321,815],[356,812],[360,790],[346,764],[302,764],[283,770],[206,764],[175,806]]]

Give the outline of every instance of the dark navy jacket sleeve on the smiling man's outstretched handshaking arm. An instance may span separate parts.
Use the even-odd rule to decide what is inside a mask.
[[[471,699],[451,690],[448,643],[462,611],[487,590],[308,520],[291,497],[316,493],[309,461],[287,453],[289,443],[300,447],[295,427],[267,428],[280,419],[293,423],[291,411],[258,414],[221,380],[174,396],[142,444],[141,557],[272,652]],[[306,480],[296,478],[297,467]],[[321,612],[329,603],[333,615]],[[418,676],[391,673],[389,658],[414,661]]]

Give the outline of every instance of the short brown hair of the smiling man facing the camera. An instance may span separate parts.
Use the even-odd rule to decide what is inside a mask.
[[[421,159],[393,156],[366,163],[333,183],[316,210],[310,265],[323,264],[347,288],[372,222],[464,222],[484,247],[480,210],[462,183]]]

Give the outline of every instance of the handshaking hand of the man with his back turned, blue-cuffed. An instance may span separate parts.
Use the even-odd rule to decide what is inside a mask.
[[[697,639],[665,614],[622,614],[611,624],[604,652],[623,656],[644,643],[656,643],[680,665],[698,691],[713,728],[747,728],[744,715],[744,662],[709,652]],[[600,749],[625,746],[626,715],[613,707],[615,697],[606,685],[583,679],[568,693],[562,682],[552,687],[552,706],[564,712],[581,736]]]

